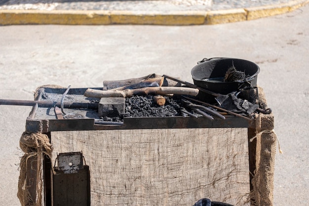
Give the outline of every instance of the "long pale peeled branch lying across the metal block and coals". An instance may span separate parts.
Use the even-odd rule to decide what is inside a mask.
[[[139,89],[125,89],[125,90],[98,90],[88,88],[84,95],[86,97],[102,98],[102,97],[131,97],[133,95],[165,95],[165,94],[183,94],[196,96],[198,89],[177,86],[162,86],[162,87],[145,87]]]

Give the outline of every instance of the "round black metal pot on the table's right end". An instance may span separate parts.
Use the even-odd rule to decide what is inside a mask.
[[[223,82],[226,72],[232,66],[248,77],[241,81]],[[195,85],[215,93],[228,94],[247,86],[257,86],[259,72],[259,66],[251,61],[234,58],[204,58],[193,67],[191,75]],[[199,92],[197,98],[206,102],[214,101],[214,96],[203,92]]]

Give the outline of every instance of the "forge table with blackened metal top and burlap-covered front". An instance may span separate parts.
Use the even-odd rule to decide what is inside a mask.
[[[95,107],[99,99],[83,96],[85,90],[72,88],[67,93],[64,102],[83,105],[65,105],[64,112],[71,114],[68,119],[57,119],[54,106],[39,104],[27,118],[26,132],[47,135],[53,147],[51,156],[43,153],[42,205],[56,205],[57,195],[66,198],[62,206],[189,206],[202,198],[232,205],[272,205],[273,175],[262,178],[269,168],[260,166],[262,156],[264,165],[271,169],[274,165],[275,136],[263,132],[273,129],[271,114],[252,116],[252,121],[235,116],[213,121],[147,117],[102,124]],[[59,102],[65,91],[41,87],[35,100]],[[264,151],[270,154],[265,156]],[[68,180],[55,191],[55,159],[70,152],[82,152],[90,181],[82,184],[86,179],[78,177],[71,180],[74,186]],[[36,157],[28,161],[40,166]],[[28,166],[27,187],[36,201],[38,182],[37,169]],[[78,198],[82,187],[87,187],[86,200]]]

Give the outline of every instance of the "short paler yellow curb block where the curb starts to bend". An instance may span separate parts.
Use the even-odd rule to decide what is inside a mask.
[[[247,13],[244,9],[228,9],[219,11],[209,11],[205,24],[224,24],[237,21],[245,21]]]

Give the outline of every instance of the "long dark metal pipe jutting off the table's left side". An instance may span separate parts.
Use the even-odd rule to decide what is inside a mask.
[[[0,99],[0,105],[17,105],[17,106],[35,106],[36,104],[43,107],[60,107],[61,102],[54,101],[31,101],[31,100],[13,100],[13,99]],[[83,103],[83,102],[63,102],[65,108],[86,108],[86,109],[98,109],[98,104],[95,103]]]

